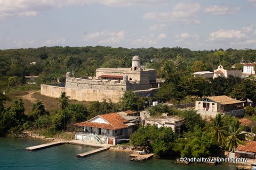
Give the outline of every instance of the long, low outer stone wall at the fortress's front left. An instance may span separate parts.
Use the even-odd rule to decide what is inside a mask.
[[[119,102],[124,94],[124,91],[63,88],[41,84],[41,94],[45,96],[59,98],[63,91],[66,92],[66,96],[70,96],[70,99],[78,101],[103,101],[103,99],[109,101],[110,99],[114,103]]]

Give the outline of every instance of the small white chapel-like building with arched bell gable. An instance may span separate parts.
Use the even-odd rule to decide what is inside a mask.
[[[242,70],[225,70],[222,65],[219,65],[218,69],[214,70],[213,79],[218,77],[228,78],[230,75],[241,78]]]

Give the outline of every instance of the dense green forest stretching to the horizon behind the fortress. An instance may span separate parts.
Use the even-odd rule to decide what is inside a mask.
[[[28,75],[39,75],[38,83],[47,83],[68,71],[75,77],[86,77],[94,75],[98,67],[130,67],[134,55],[141,58],[142,65],[156,69],[158,78],[167,79],[175,73],[187,75],[196,71],[213,71],[219,64],[230,69],[242,59],[254,62],[256,50],[191,51],[180,47],[127,49],[103,46],[0,50],[0,89],[22,84]],[[155,60],[150,61],[150,58]],[[236,67],[242,69],[239,64]]]

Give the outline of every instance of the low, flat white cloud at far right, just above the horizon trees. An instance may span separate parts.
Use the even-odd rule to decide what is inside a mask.
[[[211,39],[241,39],[245,37],[245,33],[241,30],[223,30],[210,33]]]

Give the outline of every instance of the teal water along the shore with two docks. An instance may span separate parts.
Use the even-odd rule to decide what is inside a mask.
[[[0,169],[172,169],[172,170],[224,170],[235,169],[233,164],[207,166],[202,164],[178,165],[170,159],[149,159],[131,162],[129,153],[107,150],[84,158],[76,157],[95,148],[78,145],[61,145],[38,151],[26,151],[26,147],[45,143],[43,140],[0,138]]]

